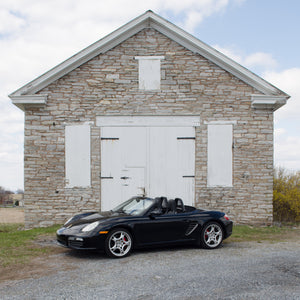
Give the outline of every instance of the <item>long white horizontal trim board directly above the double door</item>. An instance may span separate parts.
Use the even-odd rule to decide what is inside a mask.
[[[99,127],[196,127],[199,116],[98,116]]]

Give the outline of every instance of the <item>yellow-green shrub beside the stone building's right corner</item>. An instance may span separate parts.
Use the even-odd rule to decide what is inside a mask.
[[[273,217],[277,222],[300,222],[300,171],[274,171]]]

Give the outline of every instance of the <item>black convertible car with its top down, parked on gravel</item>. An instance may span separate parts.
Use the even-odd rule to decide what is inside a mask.
[[[232,233],[232,221],[218,211],[184,205],[165,197],[133,197],[108,212],[74,216],[57,231],[60,245],[101,249],[125,257],[133,248],[196,244],[214,249]]]

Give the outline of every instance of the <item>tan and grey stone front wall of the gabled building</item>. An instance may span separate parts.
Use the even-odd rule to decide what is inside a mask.
[[[135,56],[159,55],[161,90],[138,89]],[[53,82],[44,108],[25,113],[26,226],[62,223],[100,208],[97,115],[199,115],[196,205],[240,223],[272,221],[273,114],[251,108],[254,88],[153,29],[145,29]],[[207,125],[233,127],[233,188],[207,187]],[[65,126],[91,124],[91,188],[65,188]]]

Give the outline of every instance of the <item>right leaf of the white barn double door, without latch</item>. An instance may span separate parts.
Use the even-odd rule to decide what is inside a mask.
[[[194,202],[195,128],[151,127],[149,194]]]

